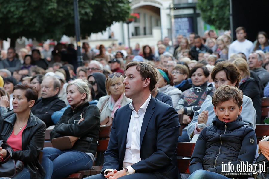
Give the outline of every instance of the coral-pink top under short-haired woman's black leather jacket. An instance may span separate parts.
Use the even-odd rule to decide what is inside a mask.
[[[25,125],[20,132],[15,135],[14,130],[12,131],[11,135],[7,139],[7,144],[14,150],[22,150],[22,131],[25,129],[27,125]]]

